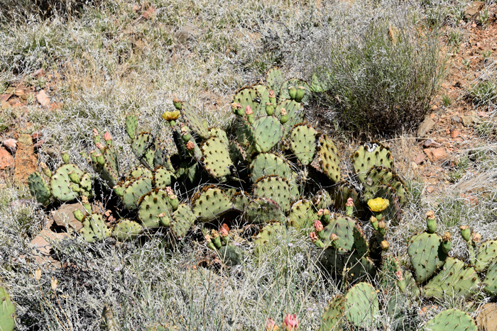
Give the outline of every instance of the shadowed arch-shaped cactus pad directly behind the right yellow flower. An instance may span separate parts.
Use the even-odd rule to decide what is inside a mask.
[[[402,179],[392,169],[383,166],[375,166],[369,169],[364,181],[363,201],[369,201],[379,196],[378,191],[383,185],[391,186],[403,205],[407,202],[407,192]]]

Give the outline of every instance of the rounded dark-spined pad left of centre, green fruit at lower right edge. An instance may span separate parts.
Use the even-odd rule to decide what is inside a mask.
[[[138,217],[146,228],[169,226],[173,208],[170,205],[168,192],[154,189],[140,198]]]

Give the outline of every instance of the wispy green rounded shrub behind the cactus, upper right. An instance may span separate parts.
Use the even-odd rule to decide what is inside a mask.
[[[437,35],[383,22],[345,38],[319,55],[326,61],[313,83],[327,90],[327,106],[351,130],[392,135],[415,129],[444,75]]]

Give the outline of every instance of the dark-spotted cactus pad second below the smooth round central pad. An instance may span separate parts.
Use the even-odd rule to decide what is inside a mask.
[[[278,203],[283,212],[290,211],[290,184],[279,176],[264,176],[253,185],[253,196],[259,198],[270,198]]]

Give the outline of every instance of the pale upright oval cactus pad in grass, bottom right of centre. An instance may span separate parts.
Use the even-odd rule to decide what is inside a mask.
[[[373,286],[364,282],[352,286],[344,301],[347,320],[356,327],[371,329],[379,314],[378,295]]]

